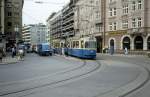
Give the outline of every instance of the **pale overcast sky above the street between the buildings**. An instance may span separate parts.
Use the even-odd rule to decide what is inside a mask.
[[[41,1],[43,3],[35,3]],[[23,24],[46,24],[46,20],[52,12],[63,8],[70,0],[24,0]]]

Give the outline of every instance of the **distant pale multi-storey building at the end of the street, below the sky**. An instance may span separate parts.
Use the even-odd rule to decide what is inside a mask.
[[[30,24],[22,28],[22,38],[25,44],[37,45],[46,43],[48,29],[44,24]]]

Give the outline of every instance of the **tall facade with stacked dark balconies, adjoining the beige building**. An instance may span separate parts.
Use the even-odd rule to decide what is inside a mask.
[[[61,47],[66,47],[70,38],[75,36],[74,29],[74,9],[79,0],[70,0],[70,2],[62,9],[62,41]]]

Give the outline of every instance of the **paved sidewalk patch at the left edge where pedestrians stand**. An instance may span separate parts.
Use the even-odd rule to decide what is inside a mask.
[[[7,64],[14,64],[19,62],[17,57],[12,58],[11,56],[3,57],[2,62],[0,62],[0,65],[7,65]]]

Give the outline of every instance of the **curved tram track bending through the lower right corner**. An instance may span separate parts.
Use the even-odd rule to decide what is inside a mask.
[[[137,65],[136,63],[132,63],[132,64]],[[99,95],[93,96],[93,97],[126,97],[128,95],[131,95],[132,93],[135,93],[139,89],[143,88],[148,82],[150,82],[150,70],[147,66],[141,66],[141,65],[137,65],[137,66],[142,68],[145,72],[147,72],[147,77],[145,79],[143,79],[140,82],[140,84],[139,83],[138,83],[138,85],[134,84],[134,81],[136,81],[138,79],[138,78],[136,78],[135,80],[133,80],[132,82],[130,82],[126,85],[120,86],[116,89],[107,91],[105,93],[102,93],[102,94],[99,94]],[[135,86],[131,87],[130,85],[131,86],[135,85]],[[125,87],[128,87],[128,88],[125,88]],[[120,90],[123,90],[123,91],[120,91]]]

